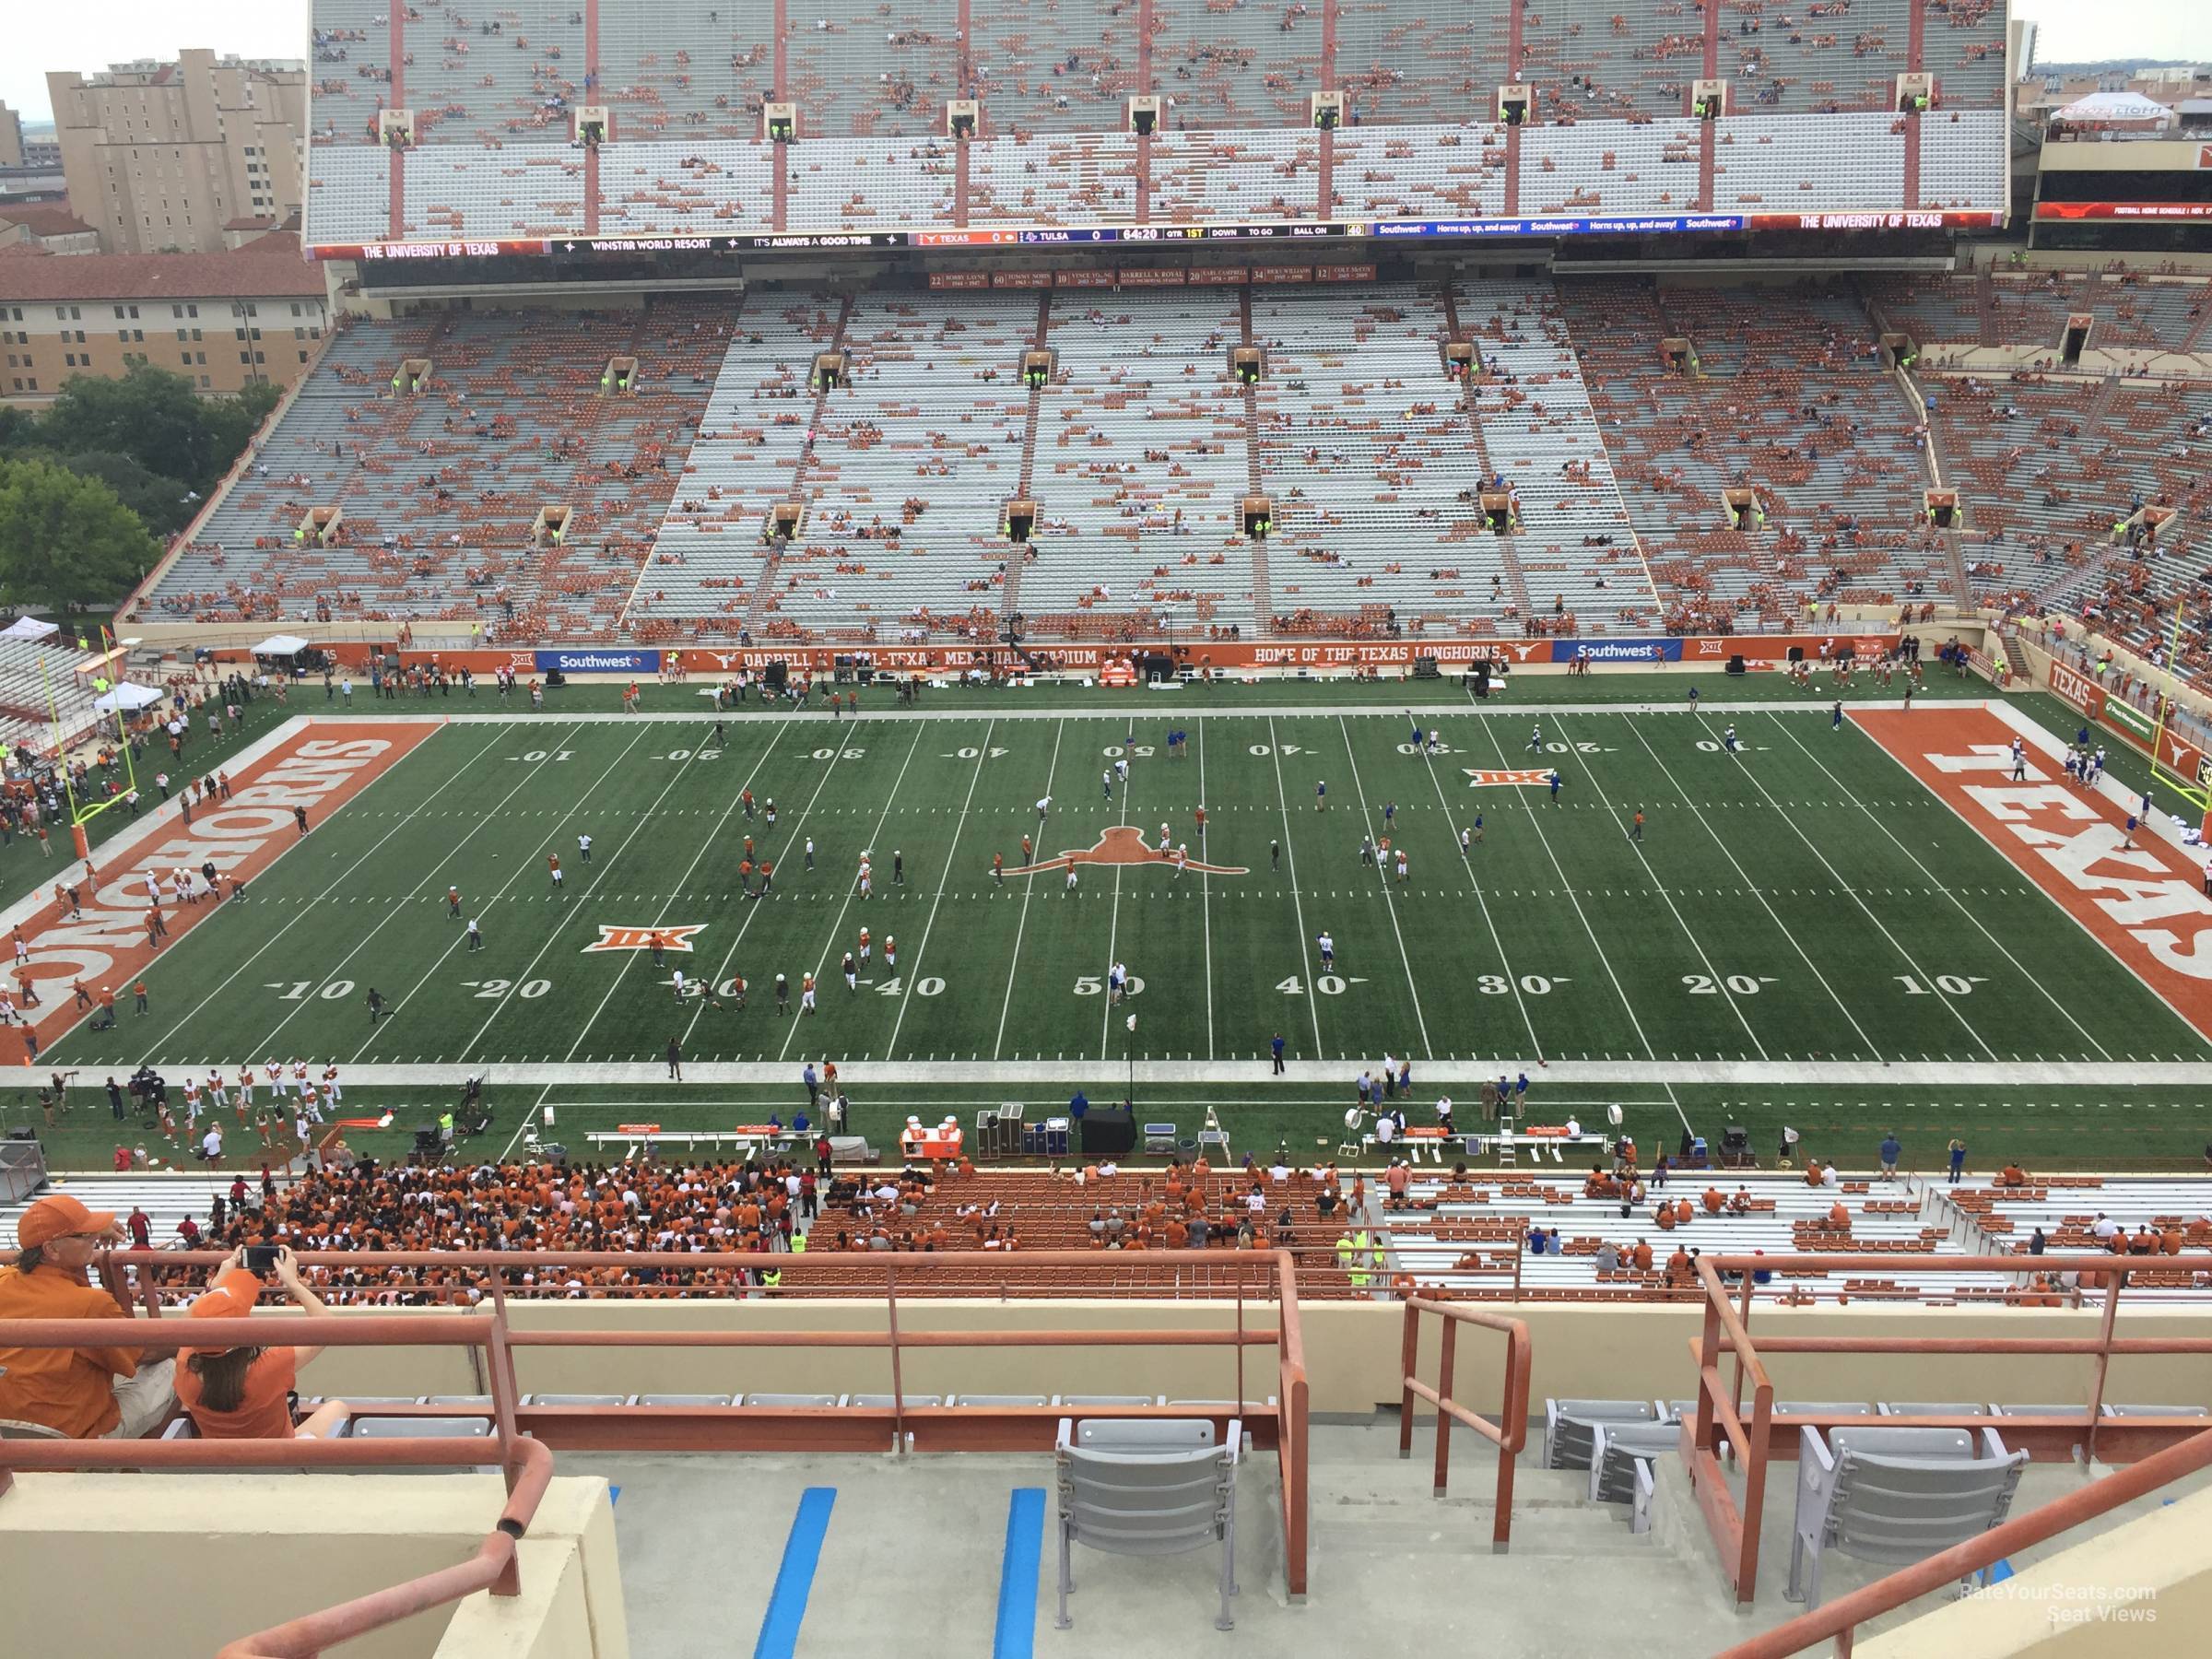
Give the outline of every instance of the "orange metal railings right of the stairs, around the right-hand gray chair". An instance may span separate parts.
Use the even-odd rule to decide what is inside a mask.
[[[1865,1272],[1880,1263],[1893,1261],[1891,1256],[1818,1256],[1801,1254],[1790,1256],[1792,1272]],[[1705,1287],[1705,1329],[1701,1336],[1690,1338],[1690,1356],[1697,1363],[1697,1416],[1683,1418],[1683,1469],[1690,1478],[1690,1486],[1697,1493],[1699,1509],[1705,1515],[1705,1528],[1712,1533],[1714,1548],[1721,1553],[1721,1573],[1734,1586],[1736,1601],[1750,1604],[1759,1588],[1759,1535],[1765,1520],[1765,1489],[1767,1489],[1767,1464],[1774,1458],[1796,1458],[1798,1429],[1832,1429],[1851,1425],[1874,1425],[1891,1429],[1973,1429],[1986,1427],[1986,1418],[1960,1418],[1960,1416],[1924,1416],[1924,1418],[1867,1418],[1867,1416],[1790,1416],[1776,1420],[1774,1416],[1774,1380],[1767,1374],[1765,1358],[1776,1354],[2042,1354],[2042,1356],[2079,1356],[2093,1360],[2088,1405],[2081,1416],[2008,1416],[2004,1418],[2006,1444],[2015,1451],[2028,1451],[2033,1458],[2070,1458],[2075,1447],[2081,1447],[2086,1458],[2104,1455],[2108,1462],[2139,1462],[2141,1467],[2168,1469],[2170,1473],[2157,1475],[2150,1484],[2163,1484],[2174,1480],[2190,1469],[2205,1467],[2212,1462],[2212,1433],[2205,1433],[2201,1418],[2104,1418],[2104,1396],[2115,1356],[2137,1356],[2137,1354],[2212,1354],[2212,1336],[2115,1336],[2115,1323],[2119,1316],[2119,1301],[2128,1279],[2126,1256],[2039,1256],[2037,1267],[2051,1274],[2095,1274],[2093,1283],[2099,1283],[2106,1292],[2104,1316],[2099,1321],[2097,1336],[1767,1336],[1752,1343],[1750,1316],[1752,1316],[1752,1274],[1761,1270],[1772,1270],[1776,1265],[1774,1256],[1701,1256],[1697,1263],[1699,1281]],[[1989,1272],[1989,1274],[2017,1274],[2020,1256],[1944,1256],[1942,1265],[1947,1272]],[[2212,1272],[2212,1256],[2159,1256],[2159,1272]],[[1734,1285],[1728,1279],[1736,1279]],[[2139,1301],[2139,1305],[2154,1307],[2154,1303]],[[1725,1358],[1734,1360],[1734,1371],[1730,1376],[1721,1374],[1721,1363]],[[1743,1409],[1743,1389],[1750,1385],[1752,1402],[1750,1411]],[[2168,1453],[2181,1453],[2203,1438],[2205,1447],[2194,1451],[2192,1458],[2166,1460]],[[1723,1444],[1734,1451],[1743,1469],[1743,1502],[1736,1504],[1730,1493],[1728,1478],[1721,1464]],[[2163,1462],[2161,1462],[2163,1460]],[[2135,1469],[2126,1471],[2130,1478],[2137,1475]],[[2070,1493],[2057,1504],[2046,1504],[2033,1515],[2022,1517],[2017,1524],[2026,1526],[2046,1517],[2051,1511],[2066,1511],[2055,1522],[2042,1522],[2046,1531],[2035,1537],[2048,1537],[2055,1531],[2086,1520],[2088,1515],[2104,1513],[2117,1502],[2137,1495],[2137,1491],[2148,1491],[2150,1486],[2137,1486],[2132,1480],[2115,1489],[2117,1495],[2104,1500],[2093,1500],[2093,1493],[2104,1489],[2108,1482],[2097,1482],[2084,1491]],[[2084,1506],[2088,1504],[2088,1506]],[[2011,1526],[2013,1522],[2008,1522]],[[2002,1535],[2004,1528],[1991,1533],[1991,1537]],[[2028,1540],[2022,1540],[2028,1542]],[[1980,1553],[1989,1540],[1978,1540],[1971,1546],[1960,1546],[1960,1551]],[[1936,1557],[1938,1562],[1949,1559],[1953,1553]],[[1997,1548],[1989,1555],[1989,1562],[1997,1559],[2004,1551]],[[1907,1582],[1918,1582],[1920,1575],[1931,1571],[1931,1562],[1922,1562],[1916,1568],[1896,1573],[1882,1584],[1867,1586],[1867,1590],[1845,1597],[1834,1606],[1854,1608],[1851,1619],[1863,1619],[1874,1613],[1882,1613],[1898,1606],[1920,1590],[1909,1588]],[[1969,1568],[1971,1571],[1971,1568]],[[1955,1577],[1955,1575],[1953,1575]],[[1940,1584],[1942,1579],[1933,1579]],[[1882,1586],[1896,1586],[1889,1599],[1878,1606],[1867,1601],[1874,1590]],[[1922,1586],[1927,1588],[1927,1586]],[[1832,1617],[1832,1610],[1827,1610]],[[1803,1619],[1796,1624],[1805,1624]],[[1792,1626],[1783,1626],[1796,1628]],[[1843,1626],[1838,1626],[1843,1628]],[[1823,1632],[1807,1635],[1805,1641],[1818,1641]],[[1772,1639],[1772,1637],[1767,1637]],[[1756,1646],[1756,1644],[1754,1644]],[[1803,1644],[1801,1644],[1803,1646]],[[1765,1652],[1765,1648],[1761,1648]],[[1774,1652],[1796,1652],[1796,1648],[1774,1648]]]

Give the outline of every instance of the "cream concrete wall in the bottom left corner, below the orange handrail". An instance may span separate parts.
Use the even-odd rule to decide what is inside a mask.
[[[502,1504],[498,1475],[473,1473],[18,1475],[0,1498],[0,1648],[215,1652],[469,1559]],[[606,1482],[555,1480],[522,1548],[520,1597],[420,1613],[347,1659],[628,1659]]]

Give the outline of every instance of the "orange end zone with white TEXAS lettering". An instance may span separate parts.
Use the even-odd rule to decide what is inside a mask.
[[[2028,781],[2013,783],[2015,732],[1989,710],[1863,710],[1851,721],[2212,1035],[2212,898],[2190,849],[2148,832],[2126,847],[2128,814],[2068,783],[2039,750],[2028,750]]]

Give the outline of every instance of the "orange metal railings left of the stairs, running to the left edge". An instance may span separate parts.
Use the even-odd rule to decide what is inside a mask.
[[[283,1340],[296,1329],[274,1318],[252,1321],[184,1321],[161,1316],[159,1292],[148,1270],[199,1270],[212,1274],[217,1265],[230,1261],[219,1250],[115,1250],[97,1261],[102,1283],[128,1307],[133,1301],[146,1305],[146,1318],[133,1321],[128,1338],[115,1321],[0,1321],[0,1347],[108,1347],[119,1338],[148,1349],[175,1347],[223,1347],[241,1343]],[[440,1267],[465,1270],[476,1276],[480,1310],[471,1314],[369,1314],[345,1312],[336,1318],[314,1321],[314,1343],[323,1347],[436,1347],[467,1345],[480,1347],[484,1360],[482,1391],[491,1396],[489,1416],[495,1422],[495,1455],[507,1471],[509,1495],[529,1491],[529,1469],[535,1458],[546,1455],[551,1471],[551,1449],[723,1449],[723,1451],[880,1451],[885,1433],[894,1444],[905,1444],[909,1433],[920,1433],[931,1447],[956,1451],[1037,1451],[1053,1444],[1060,1407],[916,1407],[905,1396],[905,1358],[929,1349],[971,1347],[1225,1347],[1237,1367],[1237,1405],[1232,1409],[1206,1411],[1206,1416],[1228,1420],[1239,1416],[1259,1447],[1274,1447],[1281,1467],[1285,1584],[1294,1599],[1305,1597],[1307,1584],[1307,1528],[1310,1528],[1310,1482],[1307,1482],[1307,1376],[1305,1336],[1298,1325],[1296,1263],[1290,1252],[1237,1252],[1234,1256],[1208,1263],[1219,1274],[1217,1296],[1232,1303],[1234,1323],[1228,1329],[902,1329],[900,1292],[931,1279],[958,1279],[975,1270],[1004,1272],[1009,1267],[1000,1252],[929,1252],[929,1254],[810,1254],[770,1252],[726,1256],[695,1256],[670,1252],[301,1252],[303,1267]],[[542,1272],[546,1267],[624,1267],[655,1272],[686,1272],[741,1265],[750,1272],[772,1272],[781,1276],[774,1290],[779,1301],[805,1298],[810,1279],[849,1279],[856,1265],[883,1274],[885,1327],[880,1332],[765,1332],[765,1329],[513,1329],[507,1298],[507,1279],[520,1272]],[[1099,1261],[1093,1252],[1035,1250],[1022,1252],[1022,1265],[1037,1272],[1068,1272],[1071,1287],[1102,1274],[1113,1274],[1121,1283],[1128,1263]],[[1170,1265],[1172,1272],[1172,1265]],[[416,1287],[400,1287],[416,1290]],[[469,1287],[462,1287],[469,1294]],[[745,1287],[728,1292],[734,1298],[759,1296]],[[1144,1294],[1124,1290],[1121,1294]],[[1272,1303],[1274,1323],[1256,1325],[1248,1314],[1248,1303],[1265,1307]],[[889,1407],[522,1407],[515,1376],[518,1347],[734,1347],[734,1349],[876,1349],[885,1352],[891,1367]],[[1272,1402],[1248,1400],[1245,1349],[1272,1347],[1274,1394]],[[1265,1391],[1261,1391],[1265,1396]],[[378,1416],[467,1416],[467,1407],[378,1407]],[[1126,1416],[1192,1416],[1190,1407],[1130,1409]],[[0,1493],[7,1491],[13,1469],[157,1469],[157,1467],[363,1467],[363,1464],[465,1464],[491,1462],[491,1449],[482,1440],[301,1440],[301,1442],[111,1442],[111,1440],[7,1440],[0,1442]],[[265,1462],[257,1462],[263,1460]],[[535,1493],[529,1506],[535,1509]],[[513,1502],[509,1506],[513,1511]],[[502,1533],[509,1528],[502,1517]],[[526,1515],[522,1517],[526,1524]],[[520,1533],[513,1533],[520,1535]],[[502,1546],[487,1537],[482,1551],[471,1562],[445,1573],[416,1579],[411,1584],[380,1590],[343,1608],[330,1608],[296,1619],[290,1626],[248,1637],[243,1646],[226,1650],[226,1659],[296,1659],[319,1652],[321,1646],[363,1635],[429,1606],[471,1595],[476,1588],[513,1593],[513,1535]],[[487,1582],[484,1575],[491,1575]],[[500,1590],[498,1586],[509,1588]],[[257,1646],[259,1644],[259,1646]]]

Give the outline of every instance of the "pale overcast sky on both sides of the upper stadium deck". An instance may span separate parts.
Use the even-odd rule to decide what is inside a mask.
[[[951,0],[945,7],[949,11]],[[1451,0],[1442,0],[1442,9],[1451,11]],[[2042,27],[2037,58],[2044,62],[2212,62],[2208,0],[2013,0],[2013,15],[2033,18]],[[51,115],[49,69],[91,71],[133,58],[175,58],[181,46],[212,46],[239,58],[305,58],[307,0],[7,0],[0,22],[0,100],[27,119],[44,122]]]

